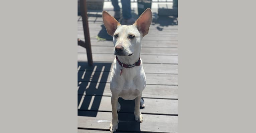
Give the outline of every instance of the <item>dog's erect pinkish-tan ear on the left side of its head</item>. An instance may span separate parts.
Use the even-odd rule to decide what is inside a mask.
[[[102,12],[102,19],[108,34],[113,37],[117,27],[120,26],[120,23],[106,11]]]

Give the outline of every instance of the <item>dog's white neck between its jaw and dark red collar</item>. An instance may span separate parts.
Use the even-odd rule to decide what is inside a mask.
[[[138,62],[140,58],[140,52],[138,54],[133,53],[131,56],[117,56],[118,60],[124,64],[132,65]]]

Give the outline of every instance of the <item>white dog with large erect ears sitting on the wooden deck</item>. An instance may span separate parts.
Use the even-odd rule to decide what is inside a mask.
[[[138,122],[143,121],[140,107],[144,107],[141,94],[146,87],[146,75],[140,59],[141,40],[148,34],[152,22],[152,12],[148,8],[133,25],[121,25],[106,11],[102,13],[107,33],[113,37],[114,55],[113,68],[110,76],[112,121],[110,132],[118,129],[118,114],[121,105],[118,98],[135,100],[134,115]]]

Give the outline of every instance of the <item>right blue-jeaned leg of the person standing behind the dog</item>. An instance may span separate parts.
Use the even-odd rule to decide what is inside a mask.
[[[121,0],[122,3],[122,13],[124,19],[132,18],[131,13],[131,0]]]

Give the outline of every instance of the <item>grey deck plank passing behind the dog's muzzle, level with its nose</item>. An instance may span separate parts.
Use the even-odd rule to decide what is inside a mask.
[[[78,46],[78,53],[86,54],[86,49]],[[113,47],[92,46],[93,54],[114,54]],[[142,48],[141,55],[178,55],[178,48]]]

